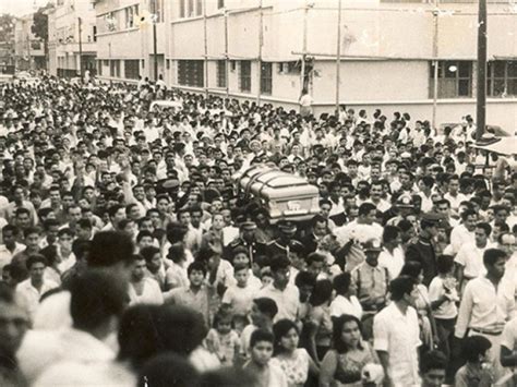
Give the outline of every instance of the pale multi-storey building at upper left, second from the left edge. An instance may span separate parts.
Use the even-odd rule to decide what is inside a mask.
[[[96,72],[96,17],[92,0],[57,0],[49,16],[49,71],[73,77]],[[82,64],[81,64],[82,63]]]

